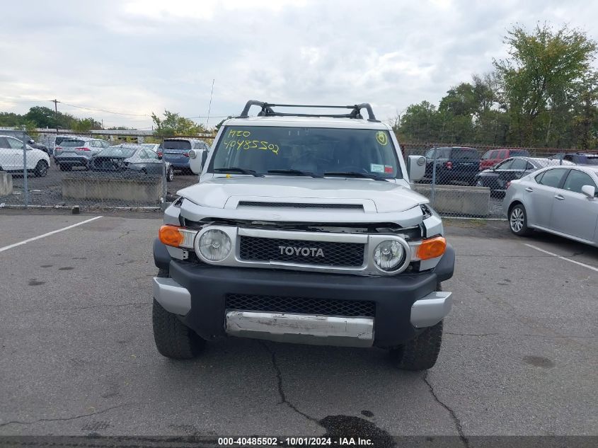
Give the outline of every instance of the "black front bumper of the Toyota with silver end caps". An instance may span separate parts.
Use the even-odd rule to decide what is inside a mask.
[[[160,254],[156,265],[165,268]],[[226,335],[294,343],[393,347],[447,316],[452,293],[437,282],[454,269],[450,246],[435,270],[396,277],[227,268],[170,260],[169,278],[154,278],[154,298],[202,338]],[[227,309],[230,294],[374,302],[374,316],[322,316]]]

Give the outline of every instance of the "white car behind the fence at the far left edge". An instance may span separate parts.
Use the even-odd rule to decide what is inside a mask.
[[[50,167],[50,156],[40,149],[25,144],[27,171],[43,177]],[[23,173],[23,142],[10,135],[0,135],[0,171]]]

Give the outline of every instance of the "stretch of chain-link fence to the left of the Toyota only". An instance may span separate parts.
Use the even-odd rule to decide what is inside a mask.
[[[97,134],[0,132],[0,208],[163,209],[197,183],[190,149],[197,137],[110,138]],[[25,168],[26,167],[26,168]]]

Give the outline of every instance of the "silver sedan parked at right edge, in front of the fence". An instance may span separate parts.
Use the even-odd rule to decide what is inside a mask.
[[[598,166],[555,166],[511,180],[502,209],[511,231],[533,229],[598,246]]]

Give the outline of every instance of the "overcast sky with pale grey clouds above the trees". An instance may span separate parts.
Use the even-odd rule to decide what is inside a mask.
[[[576,0],[21,0],[1,10],[0,111],[57,98],[63,112],[139,129],[164,109],[205,123],[212,79],[211,125],[248,99],[369,102],[387,119],[491,71],[514,23],[568,23],[598,40],[598,2]]]

